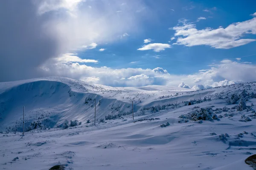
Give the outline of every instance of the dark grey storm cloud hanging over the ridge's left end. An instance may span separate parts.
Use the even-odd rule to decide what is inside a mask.
[[[57,55],[47,19],[30,0],[0,1],[0,82],[39,76],[36,67]]]

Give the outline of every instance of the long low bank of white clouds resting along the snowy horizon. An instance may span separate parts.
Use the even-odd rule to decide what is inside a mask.
[[[85,80],[109,86],[145,86],[169,85],[179,86],[180,81],[186,82],[185,87],[203,89],[239,82],[256,81],[256,65],[223,60],[210,66],[209,69],[189,75],[172,75],[167,70],[157,67],[155,69],[126,68],[112,69],[109,67],[92,67],[85,64],[50,61],[40,67],[44,76],[64,76]],[[205,66],[204,66],[205,67]],[[228,83],[227,83],[227,81]],[[182,85],[184,87],[185,83]],[[181,86],[181,85],[180,85]]]

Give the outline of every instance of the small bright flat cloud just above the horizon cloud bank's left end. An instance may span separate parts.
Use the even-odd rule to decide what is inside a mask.
[[[91,59],[81,59],[76,54],[73,53],[66,53],[64,55],[61,55],[58,58],[55,58],[56,61],[60,63],[68,63],[68,62],[79,62],[79,63],[98,63],[97,60],[91,60]]]

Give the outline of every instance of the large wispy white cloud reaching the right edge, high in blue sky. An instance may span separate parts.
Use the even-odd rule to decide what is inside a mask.
[[[233,23],[224,28],[206,28],[198,30],[194,23],[179,20],[173,27],[177,36],[178,45],[199,46],[207,45],[216,49],[230,49],[255,41],[255,39],[242,39],[246,34],[256,34],[256,17],[239,23]]]

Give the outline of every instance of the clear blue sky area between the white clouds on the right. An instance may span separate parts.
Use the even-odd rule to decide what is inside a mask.
[[[256,2],[236,0],[232,5],[230,1],[146,1],[151,9],[151,14],[155,15],[152,20],[143,20],[143,32],[129,34],[114,43],[99,44],[93,50],[79,52],[81,58],[92,58],[99,60],[97,66],[108,66],[111,68],[151,68],[162,67],[173,74],[191,74],[198,72],[199,69],[207,69],[207,65],[216,63],[223,59],[240,58],[246,55],[252,55],[242,58],[241,61],[255,62],[256,42],[248,43],[230,49],[215,49],[210,46],[192,46],[172,45],[177,39],[170,40],[175,34],[170,27],[177,25],[178,20],[183,18],[194,22],[197,29],[211,27],[218,29],[224,28],[235,22],[242,22],[252,19],[250,14],[255,12]],[[215,9],[216,8],[216,9]],[[171,10],[173,9],[173,10]],[[209,10],[205,12],[203,10]],[[198,17],[205,17],[205,20],[196,22]],[[255,35],[247,35],[247,38],[256,38]],[[153,50],[138,51],[144,39],[151,38],[151,43],[169,43],[172,48],[161,52]],[[171,41],[171,42],[169,42]],[[100,48],[106,49],[99,52]],[[155,58],[157,56],[158,58]],[[136,62],[136,63],[131,63]],[[87,64],[95,66],[95,63]]]

